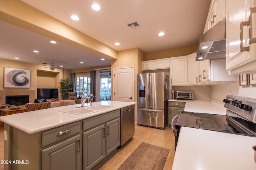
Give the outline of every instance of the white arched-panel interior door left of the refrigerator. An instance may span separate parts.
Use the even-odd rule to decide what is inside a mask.
[[[134,66],[114,68],[114,101],[134,102]]]

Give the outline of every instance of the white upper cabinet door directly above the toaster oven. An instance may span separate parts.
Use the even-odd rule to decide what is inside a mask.
[[[174,57],[170,60],[172,86],[187,85],[187,57]]]

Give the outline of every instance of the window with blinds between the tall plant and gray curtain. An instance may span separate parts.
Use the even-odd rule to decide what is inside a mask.
[[[76,76],[77,97],[81,96],[79,95],[80,92],[85,93],[86,96],[90,94],[90,86],[91,86],[90,75]]]

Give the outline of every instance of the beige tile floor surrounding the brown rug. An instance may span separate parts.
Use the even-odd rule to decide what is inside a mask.
[[[135,134],[133,139],[122,146],[107,162],[105,162],[98,170],[116,170],[128,158],[128,156],[140,145],[145,142],[159,147],[170,149],[164,170],[172,168],[174,159],[174,134],[168,127],[160,130],[151,127],[135,125]],[[4,160],[4,128],[0,127],[0,160]],[[4,166],[0,164],[0,170],[4,170]]]

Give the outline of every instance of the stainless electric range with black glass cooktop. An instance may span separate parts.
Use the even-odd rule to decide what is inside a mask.
[[[175,150],[182,126],[256,137],[256,99],[228,95],[223,102],[226,115],[181,111],[174,117]]]

